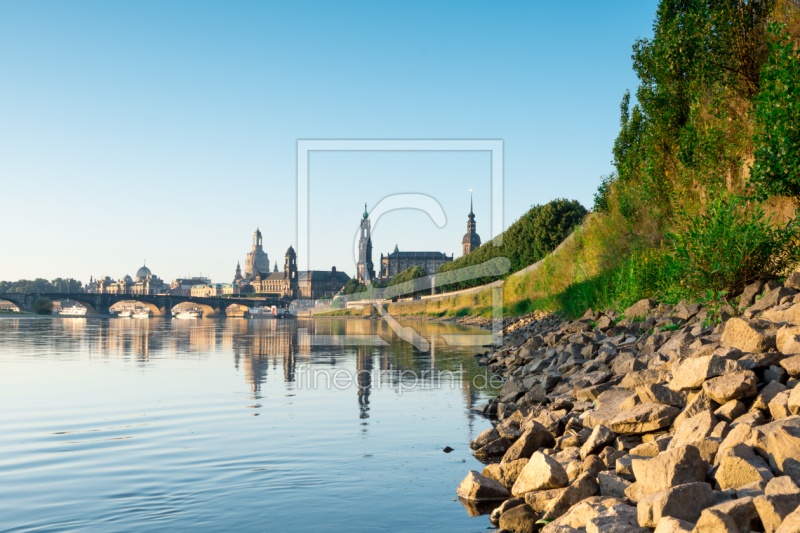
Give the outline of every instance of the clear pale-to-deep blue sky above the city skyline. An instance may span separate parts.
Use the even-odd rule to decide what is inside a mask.
[[[505,224],[591,207],[655,0],[0,3],[0,279],[233,277],[256,224],[296,243],[298,139],[502,139]],[[423,192],[447,225],[381,220],[375,261],[460,255],[481,153],[317,153],[311,266],[354,273],[363,202]]]

